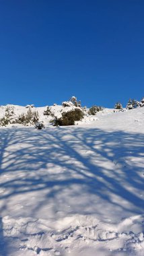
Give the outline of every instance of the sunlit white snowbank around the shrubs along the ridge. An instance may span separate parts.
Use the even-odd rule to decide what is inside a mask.
[[[69,104],[70,103],[70,104]],[[88,114],[88,108],[81,108],[79,106],[75,106],[74,104],[71,104],[71,102],[67,102],[69,106],[63,106],[63,105],[57,105],[54,104],[53,106],[43,106],[43,107],[34,107],[33,105],[28,105],[28,106],[17,106],[17,105],[11,105],[8,104],[6,106],[0,106],[0,127],[5,126],[1,125],[1,119],[5,118],[8,116],[9,123],[6,124],[9,127],[15,125],[22,127],[24,124],[18,123],[17,119],[22,116],[26,115],[28,113],[28,110],[31,110],[32,113],[38,113],[38,121],[42,122],[45,127],[48,127],[49,125],[52,125],[52,121],[55,120],[55,118],[61,118],[63,113],[67,113],[71,110],[75,110],[76,108],[80,109],[83,112],[83,119],[81,121],[75,121],[75,125],[78,125],[80,123],[91,123],[92,121],[95,121],[98,119],[96,115],[89,115]],[[32,106],[32,107],[31,107]],[[50,110],[49,115],[44,115],[44,111],[46,111],[47,107]],[[119,112],[120,110],[117,109],[108,109],[104,108],[99,115],[107,115],[110,113],[116,113]],[[27,126],[32,126],[34,123],[27,123]]]

